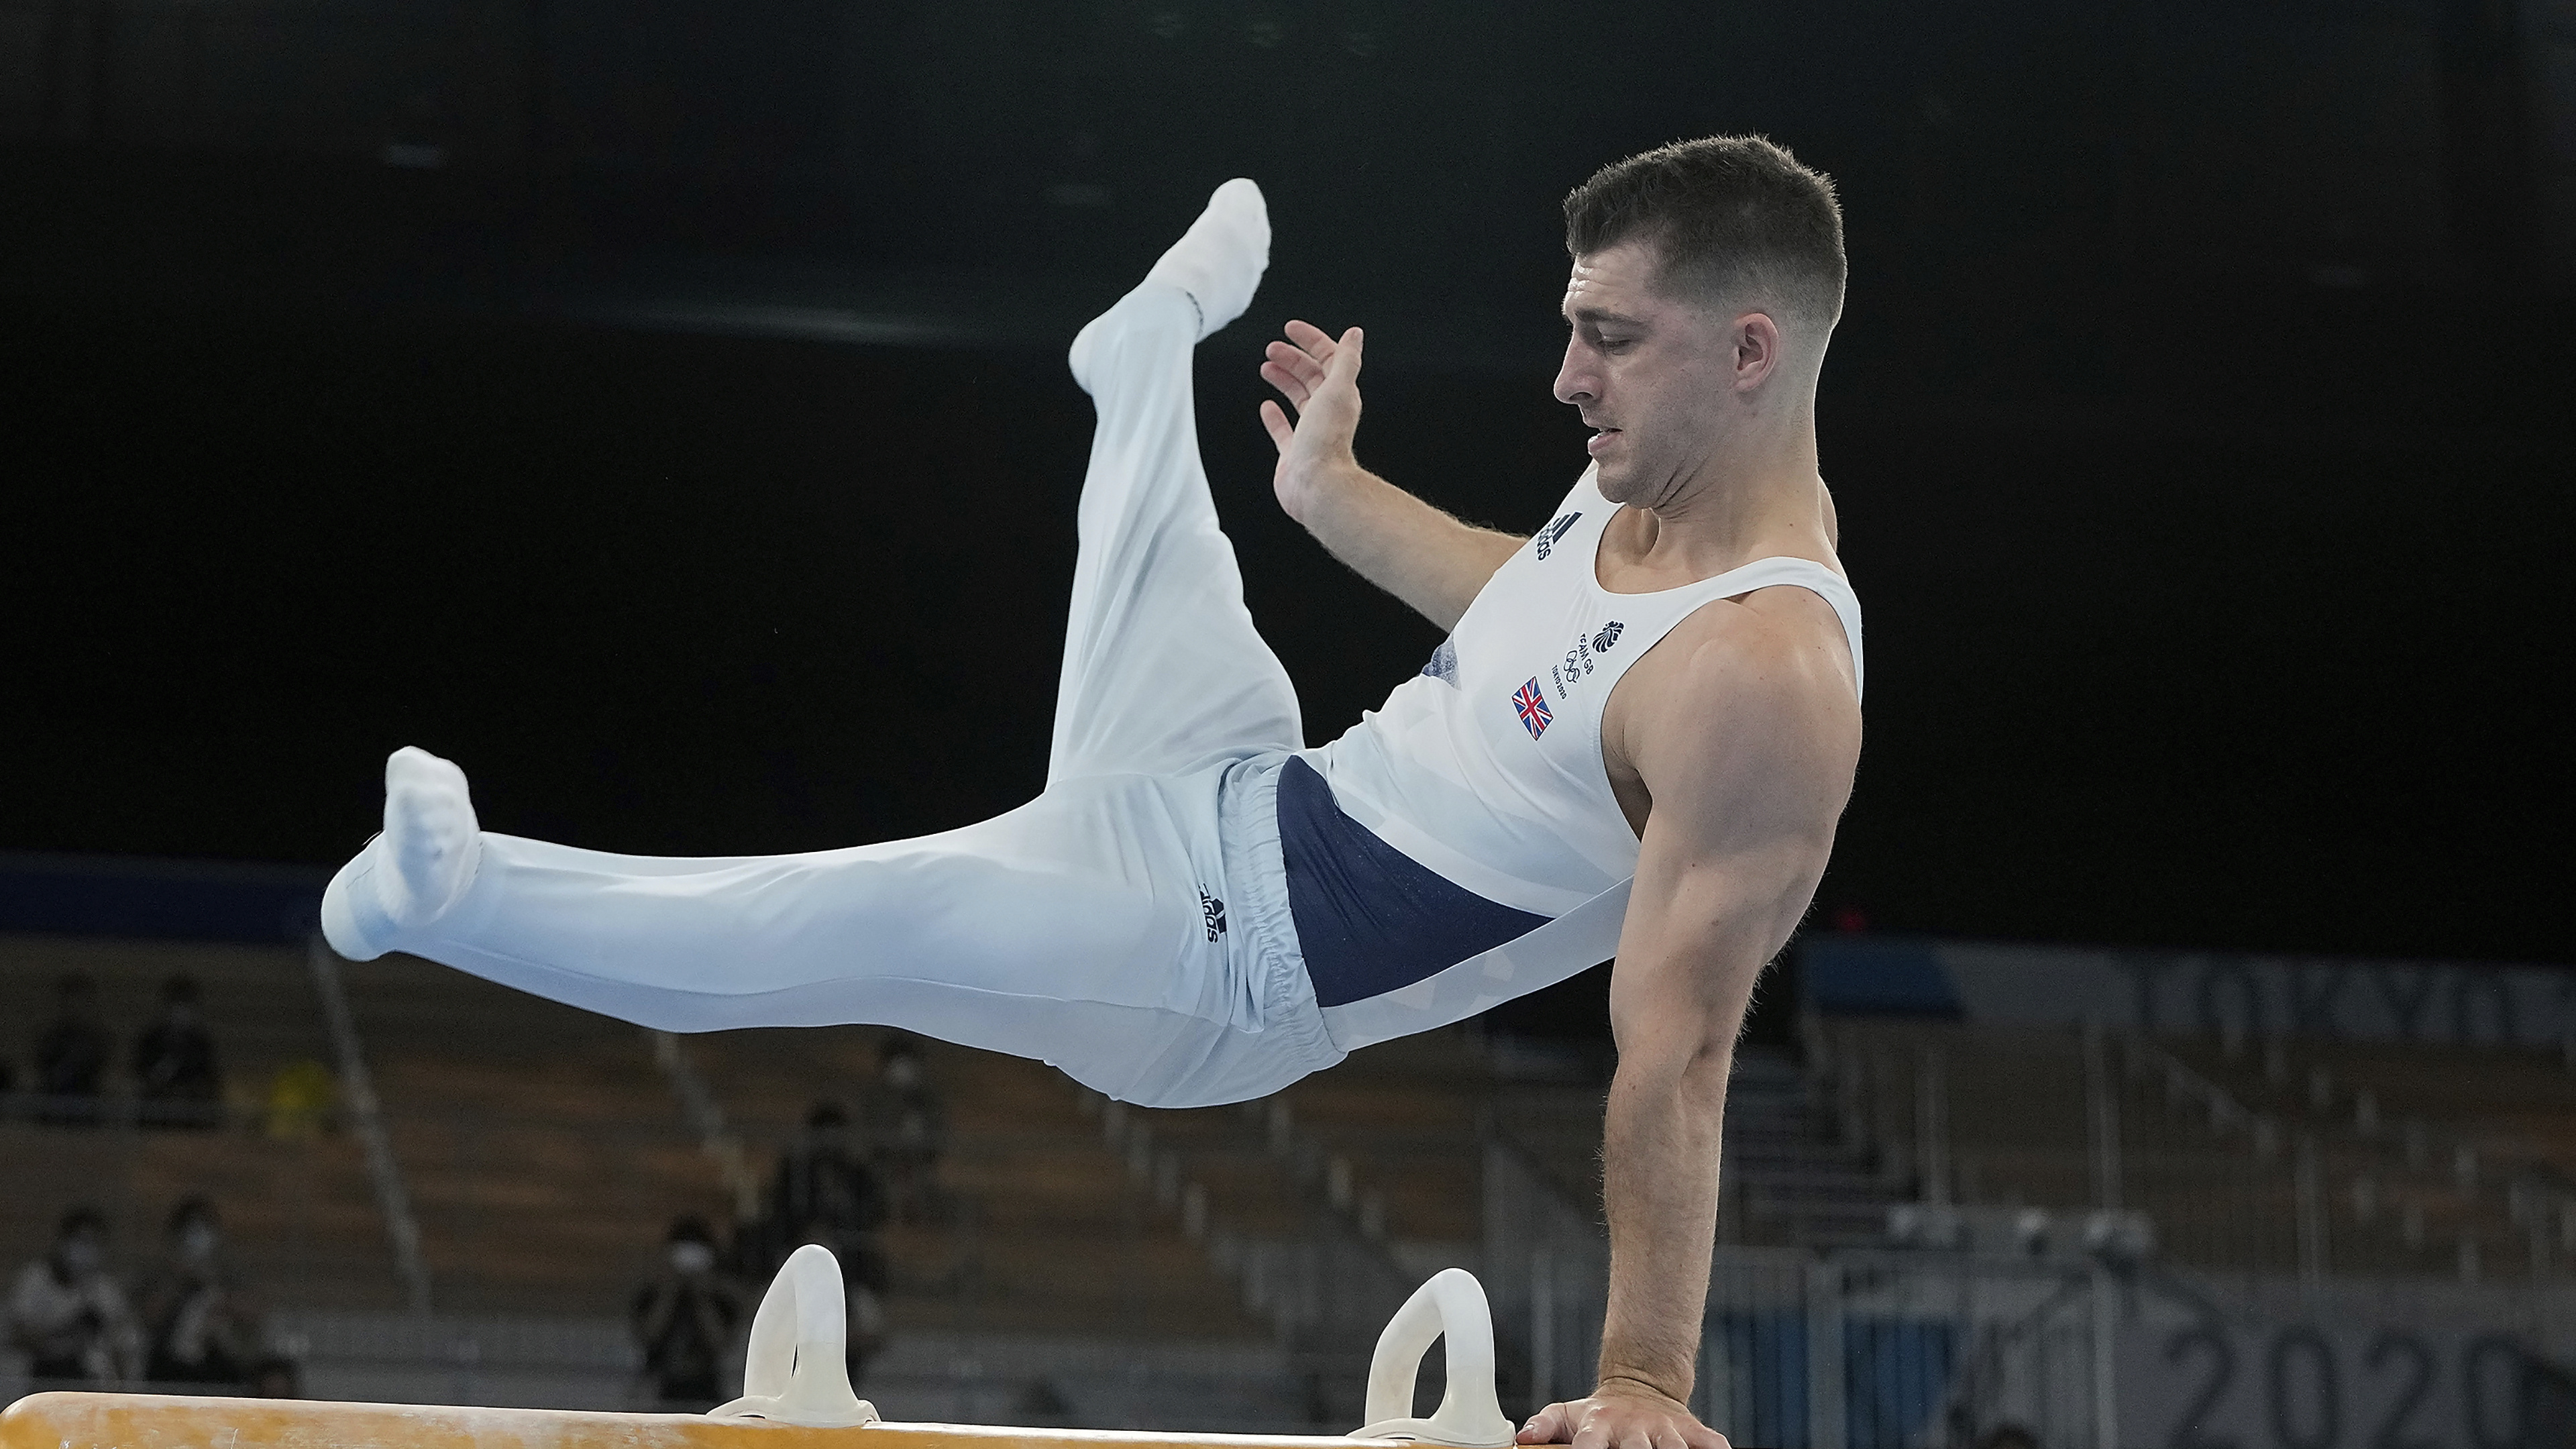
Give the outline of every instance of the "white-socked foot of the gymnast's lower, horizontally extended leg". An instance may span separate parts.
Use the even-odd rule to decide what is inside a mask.
[[[482,861],[466,773],[404,745],[384,761],[384,833],[340,866],[322,892],[322,936],[353,962],[392,951],[464,900]]]

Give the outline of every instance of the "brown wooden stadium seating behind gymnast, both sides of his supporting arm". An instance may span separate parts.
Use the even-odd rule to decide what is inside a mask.
[[[10,1266],[95,1201],[118,1266],[142,1269],[170,1207],[206,1194],[307,1387],[348,1397],[641,1405],[623,1310],[670,1217],[732,1220],[814,1101],[863,1104],[886,1042],[871,1026],[665,1039],[422,962],[340,962],[420,1227],[433,1312],[417,1315],[307,951],[5,936],[0,1011],[31,1034],[64,972],[98,980],[118,1067],[100,1127],[44,1124],[23,1096],[0,1111],[0,1147],[26,1165],[0,1194]],[[170,972],[204,985],[216,1129],[134,1122],[124,1052]],[[1507,1196],[1597,1232],[1602,1060],[1466,1026],[1265,1101],[1159,1111],[1036,1062],[922,1052],[948,1114],[940,1194],[884,1230],[891,1343],[868,1366],[868,1392],[912,1418],[1347,1428],[1358,1359],[1404,1289],[1448,1263],[1502,1274],[1481,1261],[1502,1201],[1484,1189],[1492,1147],[1528,1168],[1497,1181],[1535,1186]],[[23,1062],[26,1042],[0,1055]],[[2576,1078],[2555,1052],[2107,1036],[2089,1060],[2074,1031],[1816,1018],[1803,1049],[1739,1049],[1728,1261],[1886,1243],[1917,1194],[1981,1222],[2045,1209],[2035,1250],[2063,1253],[2102,1191],[2097,1085],[2123,1204],[2172,1266],[2251,1284],[2563,1276],[2576,1258]],[[1512,1343],[1535,1333],[1520,1289]],[[1597,1315],[1584,1292],[1569,1269],[1569,1330]]]

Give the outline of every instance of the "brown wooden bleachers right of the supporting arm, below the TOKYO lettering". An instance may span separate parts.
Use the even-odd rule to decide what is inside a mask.
[[[1958,1201],[2061,1212],[2094,1204],[2076,1034],[1862,1018],[1832,1026],[1832,1052],[1844,1111],[1862,1119],[1860,1132],[1901,1171],[1922,1171],[1917,1127],[1929,1052],[1945,1091]],[[2226,1093],[2246,1119],[2213,1124],[2205,1091],[2174,1080],[2159,1052]],[[2334,1274],[2450,1276],[2463,1271],[2463,1256],[2481,1271],[2524,1274],[2535,1225],[2548,1240],[2563,1230],[2530,1212],[2517,1217],[2499,1186],[2514,1173],[2576,1165],[2576,1078],[2555,1055],[2313,1042],[2228,1052],[2221,1042],[2115,1039],[2107,1065],[2123,1207],[2154,1217],[2169,1261],[2298,1271],[2298,1222],[2311,1212],[2324,1269]],[[2370,1093],[2367,1109],[2357,1093]],[[2409,1158],[2409,1122],[2445,1147]],[[2463,1183],[2447,1147],[2455,1140],[2473,1145],[2483,1181]],[[2313,1152],[2306,1199],[2303,1142]]]

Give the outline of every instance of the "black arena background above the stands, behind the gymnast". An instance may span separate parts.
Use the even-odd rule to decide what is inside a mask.
[[[1850,217],[1819,913],[2563,962],[2561,10],[0,0],[0,848],[335,864],[399,743],[618,851],[1018,804],[1061,345],[1226,175],[1203,446],[1329,737],[1435,632],[1273,508],[1262,338],[1368,325],[1363,462],[1530,529],[1556,199],[1759,129]]]

